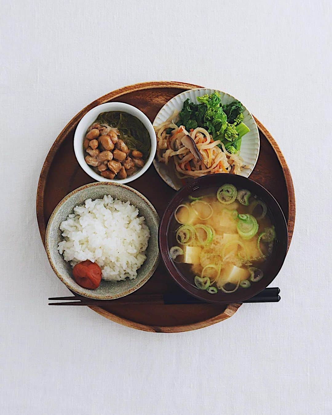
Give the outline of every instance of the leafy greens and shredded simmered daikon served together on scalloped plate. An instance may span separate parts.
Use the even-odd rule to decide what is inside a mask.
[[[182,110],[154,127],[157,160],[171,165],[180,179],[214,173],[240,174],[246,168],[240,156],[244,124],[240,101],[221,103],[218,92],[189,98]]]

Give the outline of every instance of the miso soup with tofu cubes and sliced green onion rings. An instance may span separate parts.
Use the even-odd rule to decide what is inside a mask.
[[[276,239],[266,204],[230,183],[190,195],[175,210],[171,231],[171,259],[210,294],[264,278]]]

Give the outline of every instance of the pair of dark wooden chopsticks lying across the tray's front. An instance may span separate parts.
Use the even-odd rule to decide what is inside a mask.
[[[243,301],[243,303],[277,303],[280,301],[280,289],[265,288],[254,297]],[[132,305],[132,304],[160,304],[160,305],[175,305],[175,304],[206,304],[205,301],[192,297],[187,293],[166,293],[166,294],[145,294],[145,295],[128,295],[126,297],[118,298],[116,300],[94,300],[82,296],[70,297],[50,297],[48,300],[62,300],[60,303],[48,303],[48,305]]]

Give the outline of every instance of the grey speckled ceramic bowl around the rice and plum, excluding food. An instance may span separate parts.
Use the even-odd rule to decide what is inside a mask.
[[[61,223],[74,213],[74,207],[82,205],[87,199],[102,199],[111,195],[123,202],[129,201],[138,208],[139,216],[145,217],[145,224],[150,231],[146,259],[137,270],[136,278],[125,278],[122,281],[105,281],[102,279],[95,290],[82,288],[73,279],[73,269],[70,262],[65,261],[58,251],[59,242],[63,241]],[[123,297],[143,286],[153,275],[158,262],[158,225],[159,217],[151,203],[137,190],[119,183],[90,183],[69,193],[54,209],[46,229],[46,253],[48,260],[58,278],[72,291],[85,297],[111,300]]]

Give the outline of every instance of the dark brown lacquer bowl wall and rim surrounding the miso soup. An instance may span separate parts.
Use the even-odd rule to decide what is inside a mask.
[[[223,183],[227,183],[228,180],[228,175],[225,175],[223,173],[217,173],[214,174],[212,177],[214,178],[214,180],[217,180],[217,178],[222,178],[222,181],[220,183],[220,186],[222,186]],[[226,177],[225,177],[226,176]],[[177,205],[177,203],[174,203],[175,200],[177,199],[181,199],[183,200],[187,194],[189,194],[191,191],[197,189],[199,187],[199,185],[204,181],[208,181],[209,179],[211,179],[211,176],[202,176],[200,178],[195,179],[194,181],[192,181],[191,183],[188,183],[186,186],[183,186],[180,190],[177,191],[177,193],[173,196],[173,198],[170,200],[170,203],[167,205],[164,214],[162,215],[162,218],[160,220],[160,224],[159,224],[159,229],[158,229],[158,243],[159,243],[159,251],[162,257],[162,261],[165,264],[165,267],[167,269],[167,271],[169,272],[170,276],[174,279],[174,281],[182,288],[184,289],[184,291],[187,291],[187,293],[189,293],[190,295],[199,298],[200,300],[204,300],[207,303],[213,303],[213,304],[230,304],[230,303],[242,303],[244,300],[247,300],[249,298],[252,298],[253,295],[257,295],[258,293],[260,293],[262,290],[264,290],[264,288],[266,288],[269,284],[271,284],[271,282],[274,280],[274,278],[276,278],[276,276],[278,275],[278,273],[281,270],[282,265],[284,264],[284,261],[286,259],[286,254],[287,254],[287,242],[288,242],[288,228],[287,228],[287,222],[284,216],[284,212],[282,211],[279,203],[276,201],[276,199],[274,198],[273,195],[271,195],[271,193],[264,188],[264,186],[262,186],[261,184],[257,183],[256,181],[244,177],[244,176],[238,176],[238,175],[231,175],[233,178],[234,177],[238,177],[240,178],[239,180],[243,180],[243,181],[250,181],[252,182],[253,186],[257,186],[258,188],[260,188],[260,190],[265,193],[265,195],[267,196],[267,198],[270,198],[270,201],[274,204],[274,207],[276,208],[277,211],[279,211],[280,214],[280,220],[281,220],[281,226],[282,226],[282,230],[280,232],[280,234],[282,234],[283,236],[283,240],[281,240],[281,255],[279,256],[279,264],[276,267],[276,271],[274,273],[271,274],[271,276],[269,276],[269,278],[266,279],[266,281],[264,281],[264,285],[262,286],[262,288],[257,289],[257,291],[254,292],[254,294],[247,294],[247,295],[242,295],[239,296],[237,295],[236,299],[233,298],[229,298],[229,300],[227,300],[227,298],[218,298],[217,295],[207,295],[206,291],[202,291],[202,290],[196,290],[196,287],[191,284],[187,278],[185,278],[185,276],[182,274],[182,272],[177,269],[177,267],[174,265],[173,261],[170,259],[169,256],[169,252],[168,252],[168,231],[169,231],[169,227],[170,227],[170,222],[172,220],[172,217],[174,215],[174,206],[173,205]],[[211,185],[211,187],[214,187],[214,185]],[[218,185],[217,185],[218,186]],[[208,183],[206,188],[208,188]],[[188,192],[188,190],[190,190]],[[180,196],[184,195],[184,197],[180,198]],[[264,200],[264,198],[262,198]],[[178,202],[179,200],[177,200]],[[179,201],[179,203],[182,203],[181,201]],[[270,204],[268,204],[269,206]],[[176,207],[176,206],[175,206]],[[285,239],[285,240],[284,240]],[[263,281],[263,280],[262,280]],[[204,295],[205,294],[205,295]],[[237,293],[238,294],[238,293]],[[245,292],[244,292],[245,294]],[[225,294],[226,295],[226,294]],[[232,294],[227,294],[227,295],[232,295],[232,297],[234,297],[233,293]]]

